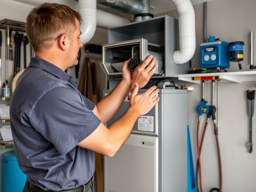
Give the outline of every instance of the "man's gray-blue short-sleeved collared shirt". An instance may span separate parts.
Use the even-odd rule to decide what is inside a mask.
[[[74,77],[31,58],[10,102],[16,157],[31,183],[59,191],[91,179],[94,152],[77,144],[100,124],[94,107],[77,90]]]

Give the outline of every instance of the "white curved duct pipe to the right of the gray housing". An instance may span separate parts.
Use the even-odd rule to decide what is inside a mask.
[[[174,51],[175,64],[188,62],[196,50],[195,12],[190,0],[170,0],[179,15],[179,50]]]

